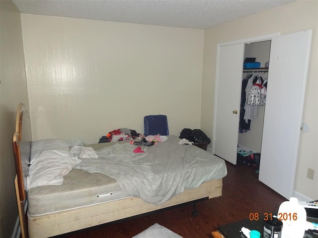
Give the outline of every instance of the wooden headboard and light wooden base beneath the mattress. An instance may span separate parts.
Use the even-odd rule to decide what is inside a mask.
[[[22,238],[57,236],[198,199],[208,199],[222,195],[222,179],[215,179],[207,181],[197,188],[186,189],[184,192],[175,195],[160,205],[146,203],[137,197],[128,197],[68,211],[26,218],[24,204],[26,203],[27,196],[24,190],[21,151],[19,147],[22,138],[23,113],[25,112],[24,105],[19,104],[15,133],[13,135],[13,151],[17,174],[15,187]]]

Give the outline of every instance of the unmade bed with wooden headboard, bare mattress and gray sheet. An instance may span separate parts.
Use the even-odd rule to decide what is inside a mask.
[[[35,147],[37,144],[35,141],[23,141],[23,115],[28,117],[24,105],[19,104],[13,135],[13,151],[22,237],[57,236],[174,205],[222,195],[222,178],[227,174],[225,161],[198,147],[178,144],[177,141],[180,139],[176,136],[168,136],[167,141],[158,142],[156,145],[140,145],[145,153],[132,154],[130,150],[136,148],[136,145],[130,144],[128,141],[86,145],[98,154],[98,159],[103,159],[103,156],[107,154],[111,155],[104,161],[106,164],[91,166],[90,164],[94,165],[98,159],[88,158],[85,160],[80,158],[80,163],[72,167],[63,177],[62,184],[41,185],[40,183],[38,186],[30,187],[28,182],[31,176],[29,173],[31,174],[34,170],[29,172],[29,168],[36,164],[33,162],[30,165],[31,154],[35,150],[34,148],[41,149],[42,147]],[[49,142],[50,140],[43,141]],[[39,145],[42,145],[41,143]],[[53,149],[55,151],[56,148]],[[47,151],[47,148],[43,146],[41,156],[46,155],[44,152]],[[174,164],[174,162],[171,164],[170,159],[164,157],[166,151],[169,151],[170,157],[174,158],[173,160],[181,161],[183,167],[191,167],[193,170],[182,172],[181,169],[178,169],[178,164]],[[178,154],[178,151],[183,155]],[[115,154],[113,155],[113,153]],[[122,159],[123,155],[124,159]],[[119,162],[117,157],[120,158]],[[194,159],[192,161],[189,158]],[[37,161],[42,160],[38,159]],[[167,177],[162,179],[158,175],[141,176],[147,177],[146,180],[151,182],[146,184],[143,189],[153,189],[151,192],[146,192],[145,198],[142,188],[131,189],[131,187],[136,184],[144,184],[144,180],[138,180],[137,177],[140,176],[137,172],[140,168],[152,167],[154,164],[150,163],[152,161],[155,164],[167,161],[166,169],[162,170],[161,167],[162,171],[160,172],[167,174],[165,175]],[[133,165],[127,167],[127,164],[131,163]],[[211,163],[211,165],[204,163]],[[113,166],[114,164],[124,167],[120,167],[116,173],[117,168]],[[108,167],[111,170],[104,172],[105,167],[107,170]],[[172,170],[170,168],[176,168],[175,174],[166,173],[166,171]],[[129,171],[133,172],[136,169],[138,169],[136,175],[129,175]],[[189,179],[190,177],[192,179]],[[171,179],[173,179],[173,183],[168,186],[163,183],[163,181]],[[163,190],[164,192],[160,193],[156,186],[168,190]],[[171,190],[171,187],[175,187],[175,189]],[[135,195],[136,192],[137,195]],[[152,194],[154,193],[156,193],[156,197],[153,196],[153,198]]]

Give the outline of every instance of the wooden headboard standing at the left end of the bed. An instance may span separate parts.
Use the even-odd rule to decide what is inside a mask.
[[[19,212],[19,219],[20,219],[21,235],[22,235],[22,238],[28,238],[29,235],[28,235],[28,228],[27,228],[27,219],[26,219],[26,214],[24,210],[24,204],[26,202],[26,192],[24,189],[22,162],[21,162],[21,154],[20,154],[20,141],[22,137],[22,119],[23,119],[24,110],[25,110],[24,104],[20,103],[18,105],[18,109],[16,112],[15,132],[13,134],[12,145],[13,145],[13,154],[14,154],[15,171],[16,171],[14,185],[15,185],[16,201],[17,201],[18,212]]]

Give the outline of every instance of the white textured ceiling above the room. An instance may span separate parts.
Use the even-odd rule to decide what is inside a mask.
[[[205,29],[295,0],[13,0],[21,13]]]

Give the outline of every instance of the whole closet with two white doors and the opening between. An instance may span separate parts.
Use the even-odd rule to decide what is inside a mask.
[[[237,164],[239,143],[260,150],[259,180],[287,199],[294,188],[311,39],[312,30],[306,30],[220,43],[217,48],[212,153]],[[269,54],[266,104],[257,116],[263,126],[251,121],[249,132],[259,129],[260,135],[243,138],[248,134],[239,135],[244,54],[252,51],[248,45],[261,43],[270,45],[264,55],[266,61]]]

